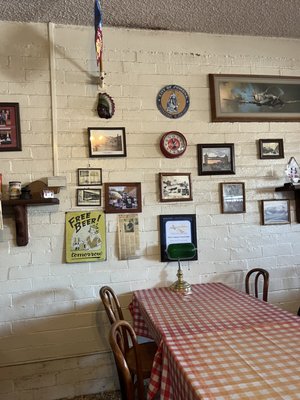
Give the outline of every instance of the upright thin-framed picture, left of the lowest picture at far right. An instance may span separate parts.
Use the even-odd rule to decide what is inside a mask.
[[[243,182],[221,183],[221,205],[223,214],[246,212],[245,184]]]

